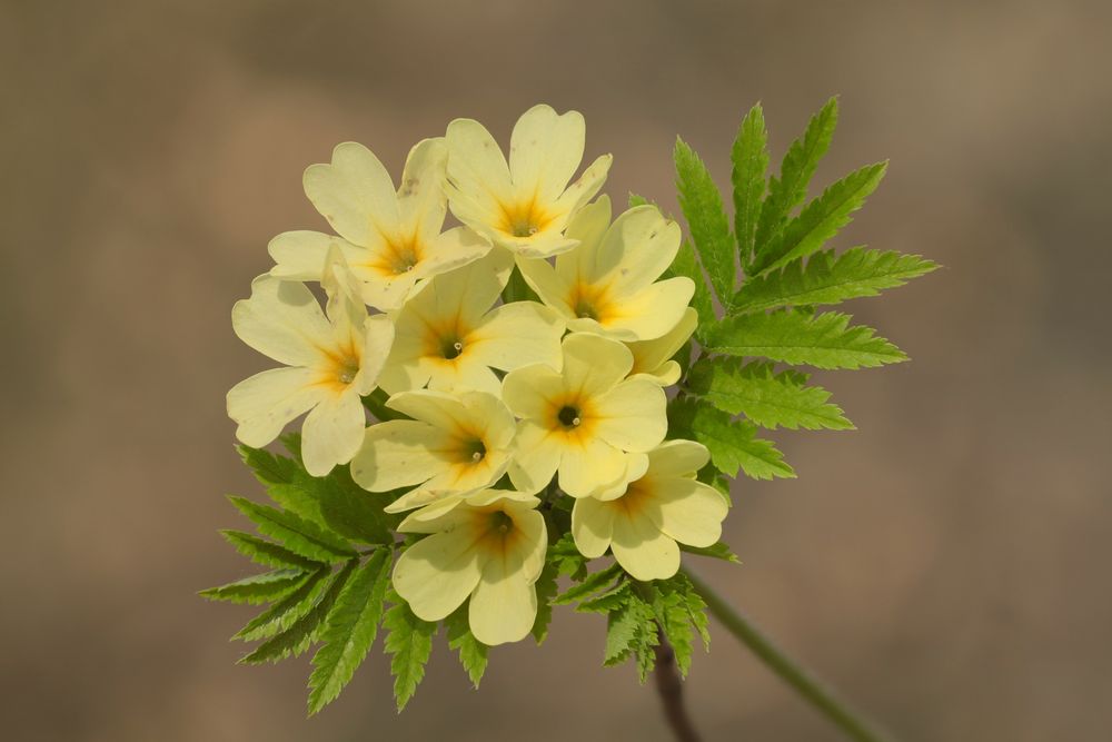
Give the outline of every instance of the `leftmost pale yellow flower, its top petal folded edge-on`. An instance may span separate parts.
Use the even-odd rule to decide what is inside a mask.
[[[231,324],[244,343],[286,364],[240,382],[228,393],[236,436],[265,446],[295,417],[305,468],[324,476],[351,459],[367,424],[360,395],[370,394],[394,338],[385,315],[367,316],[339,250],[328,254],[321,284],[327,314],[300,283],[259,276],[251,297],[236,303]]]

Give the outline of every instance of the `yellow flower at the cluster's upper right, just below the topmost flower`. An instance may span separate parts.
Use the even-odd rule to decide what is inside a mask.
[[[692,279],[657,281],[679,249],[679,225],[654,206],[638,206],[610,224],[605,196],[586,206],[567,228],[579,241],[570,253],[519,260],[522,275],[573,332],[618,340],[651,340],[676,326],[695,293]],[[655,281],[655,283],[654,283]]]

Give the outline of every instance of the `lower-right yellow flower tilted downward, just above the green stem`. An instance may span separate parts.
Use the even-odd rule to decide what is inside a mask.
[[[637,580],[666,580],[679,570],[679,547],[711,546],[722,536],[726,498],[697,482],[709,461],[693,441],[668,441],[648,452],[648,468],[610,499],[584,497],[572,511],[572,535],[584,556],[614,552]]]

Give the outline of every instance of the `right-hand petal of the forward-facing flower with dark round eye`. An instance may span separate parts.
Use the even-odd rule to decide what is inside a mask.
[[[657,384],[626,379],[595,400],[595,434],[623,451],[647,452],[668,432],[667,403]]]

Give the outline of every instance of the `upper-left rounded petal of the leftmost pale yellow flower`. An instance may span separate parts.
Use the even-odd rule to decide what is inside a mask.
[[[231,308],[236,335],[259,353],[289,366],[320,362],[320,347],[331,344],[332,329],[307,286],[259,276],[251,297]]]

